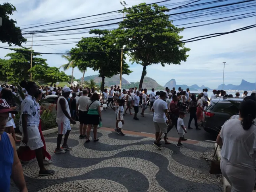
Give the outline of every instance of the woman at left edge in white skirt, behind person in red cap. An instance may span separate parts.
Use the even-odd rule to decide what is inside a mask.
[[[14,105],[14,102],[13,102],[13,93],[11,90],[9,89],[2,89],[2,91],[0,92],[0,98],[2,99],[5,99],[6,102],[9,104],[10,108],[11,109],[16,109],[16,107],[13,107]],[[11,114],[9,113],[9,117],[12,118],[11,121],[8,121],[6,123],[6,128],[5,128],[5,132],[9,133],[9,134],[12,134],[12,137],[15,141],[15,143],[20,143],[21,141],[20,140],[17,140],[16,136],[15,136],[15,130],[14,130],[14,127],[15,127],[15,123],[13,121],[13,119],[15,118],[15,115],[14,114]]]

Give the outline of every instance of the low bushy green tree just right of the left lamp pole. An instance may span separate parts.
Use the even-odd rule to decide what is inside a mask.
[[[69,77],[58,69],[58,67],[49,67],[48,65],[35,65],[29,72],[32,72],[34,81],[40,84],[52,86],[57,81],[68,81]]]

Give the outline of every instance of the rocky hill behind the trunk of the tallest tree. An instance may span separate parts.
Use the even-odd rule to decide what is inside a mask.
[[[126,84],[122,88],[125,88],[125,89],[131,88],[131,87],[139,88],[139,84],[140,82],[131,82],[130,84]],[[151,90],[152,88],[154,88],[155,90],[165,90],[163,86],[158,84],[154,79],[150,77],[144,77],[142,88],[146,88],[148,90]]]

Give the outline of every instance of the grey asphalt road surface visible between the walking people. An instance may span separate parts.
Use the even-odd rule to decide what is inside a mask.
[[[139,108],[139,113],[141,113],[142,108]],[[127,111],[128,113],[129,111]],[[134,110],[132,109],[131,112],[134,115]],[[133,119],[133,115],[125,114],[123,125],[124,130],[128,131],[138,131],[138,132],[146,132],[146,133],[155,133],[154,124],[153,124],[153,112],[149,111],[149,107],[144,112],[146,117],[142,117],[141,114],[138,113],[139,121]],[[187,117],[184,118],[185,126],[188,127],[189,123],[189,114]],[[102,111],[102,127],[109,127],[115,128],[115,111],[111,108],[108,108],[107,111]],[[194,125],[194,120],[191,123],[191,127],[193,129],[187,130],[187,134],[185,134],[185,138],[198,140],[198,141],[205,141],[205,140],[216,140],[216,136],[204,131],[202,127],[201,130],[196,130]],[[170,137],[178,137],[178,133],[173,127],[171,131],[167,134]]]

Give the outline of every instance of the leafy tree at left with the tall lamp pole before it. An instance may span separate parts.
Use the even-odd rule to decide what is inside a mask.
[[[15,53],[9,53],[5,57],[10,57],[5,72],[8,76],[8,81],[13,84],[19,84],[21,80],[30,79],[29,69],[31,68],[31,48],[14,48]],[[32,50],[34,52],[34,50]],[[32,67],[35,65],[47,66],[46,59],[39,58],[40,54],[33,53]]]

